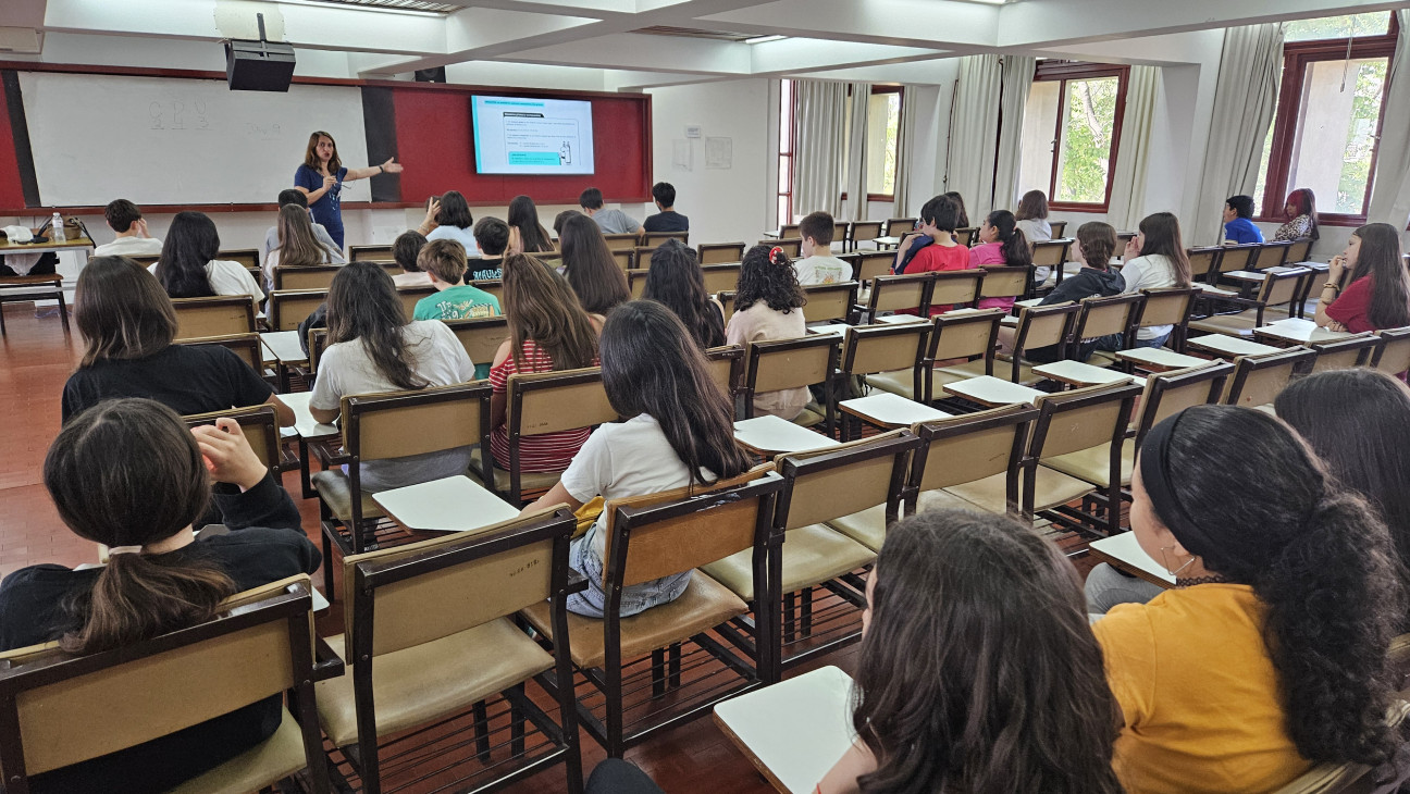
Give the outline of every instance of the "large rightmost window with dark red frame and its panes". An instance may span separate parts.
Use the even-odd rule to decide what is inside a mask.
[[[1323,223],[1365,223],[1394,45],[1387,11],[1287,24],[1283,82],[1253,195],[1263,219],[1282,220],[1285,196],[1311,188]]]

